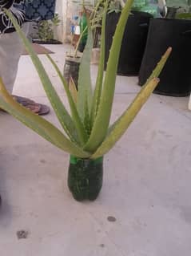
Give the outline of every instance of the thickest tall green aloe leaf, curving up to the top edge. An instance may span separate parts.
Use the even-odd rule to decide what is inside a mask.
[[[117,65],[120,54],[121,41],[132,4],[133,0],[128,0],[125,3],[125,7],[121,12],[121,16],[119,18],[119,22],[117,23],[115,34],[113,36],[113,43],[109,53],[109,60],[105,72],[105,80],[101,92],[101,100],[97,116],[94,121],[90,140],[85,146],[86,150],[90,152],[94,152],[97,149],[97,147],[102,143],[107,134],[113,104],[113,95],[115,89],[115,80],[117,74]]]

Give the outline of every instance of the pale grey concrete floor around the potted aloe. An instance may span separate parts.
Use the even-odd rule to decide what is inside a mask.
[[[62,68],[66,46],[49,46]],[[62,99],[58,76],[41,55]],[[97,67],[92,66],[93,79]],[[114,120],[140,89],[118,77]],[[28,56],[14,94],[49,104]],[[69,156],[0,113],[0,254],[2,256],[181,256],[191,251],[189,97],[152,95],[105,156],[97,201],[74,201],[66,185]],[[46,117],[58,124],[51,112]],[[108,217],[115,221],[108,221]],[[25,230],[26,239],[18,239]]]

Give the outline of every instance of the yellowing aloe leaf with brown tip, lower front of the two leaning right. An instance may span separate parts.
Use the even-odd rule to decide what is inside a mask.
[[[154,88],[157,86],[159,79],[153,78],[146,87],[143,87],[133,103],[130,104],[129,108],[124,112],[120,119],[115,124],[113,130],[109,133],[106,139],[103,141],[101,146],[97,148],[97,151],[91,156],[91,158],[97,158],[103,156],[110,148],[121,138],[125,133],[129,124],[133,122],[135,116],[140,111],[145,101],[149,98],[149,95],[152,93]]]

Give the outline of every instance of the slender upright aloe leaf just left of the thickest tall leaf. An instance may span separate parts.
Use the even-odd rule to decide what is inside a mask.
[[[105,2],[105,12],[103,14],[102,26],[101,26],[101,50],[100,50],[101,54],[99,59],[96,87],[94,90],[94,98],[93,98],[92,111],[91,111],[92,126],[94,124],[94,120],[97,115],[97,109],[100,104],[100,96],[101,96],[101,89],[102,89],[102,83],[103,83],[104,64],[105,64],[105,20],[106,20],[107,8],[108,8],[108,2]]]

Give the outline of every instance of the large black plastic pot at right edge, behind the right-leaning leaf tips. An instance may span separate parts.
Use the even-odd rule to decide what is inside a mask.
[[[168,47],[173,51],[160,75],[155,93],[186,96],[191,86],[191,21],[154,18],[150,21],[149,34],[139,72],[143,85]]]

